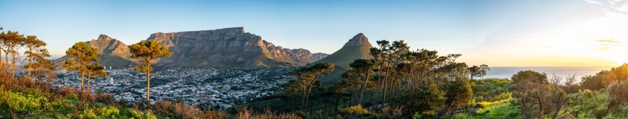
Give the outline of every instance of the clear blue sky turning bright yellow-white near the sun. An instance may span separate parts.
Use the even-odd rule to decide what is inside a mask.
[[[244,27],[284,48],[331,54],[358,33],[371,44],[459,53],[489,66],[616,66],[628,62],[628,2],[568,1],[0,1],[3,31],[36,35],[53,55],[106,34]]]

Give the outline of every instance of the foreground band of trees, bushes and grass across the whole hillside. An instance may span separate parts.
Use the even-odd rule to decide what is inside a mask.
[[[625,118],[628,116],[628,64],[576,83],[575,76],[519,71],[512,80],[476,80],[487,65],[458,63],[461,54],[411,51],[404,41],[377,41],[372,58],[355,59],[341,75],[333,63],[318,62],[290,71],[290,80],[269,100],[230,108],[200,109],[182,101],[127,103],[106,93],[53,87],[50,60],[35,36],[0,33],[0,118]],[[24,49],[22,49],[24,48]],[[154,41],[129,47],[149,76],[151,61],[170,56]],[[18,51],[25,50],[25,75],[16,74]],[[79,42],[67,51],[66,66],[87,80],[106,76],[97,49]],[[321,76],[342,80],[323,86]],[[327,80],[330,81],[330,80]],[[147,88],[149,77],[147,77]],[[148,89],[149,90],[149,89]],[[147,90],[147,91],[148,91]],[[149,92],[147,92],[149,93]],[[149,99],[149,95],[147,95]],[[149,100],[147,100],[149,101]],[[246,107],[246,106],[251,106]]]

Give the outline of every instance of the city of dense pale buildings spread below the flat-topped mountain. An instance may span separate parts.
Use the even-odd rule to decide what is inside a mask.
[[[105,70],[109,76],[92,78],[90,89],[109,93],[116,100],[146,100],[146,74],[133,68]],[[180,98],[200,108],[225,109],[281,90],[290,76],[286,70],[222,70],[216,68],[166,68],[151,73],[151,104]],[[55,71],[53,86],[80,86],[80,73]],[[87,78],[85,79],[87,81]],[[86,83],[87,84],[87,83]]]

